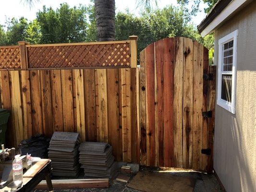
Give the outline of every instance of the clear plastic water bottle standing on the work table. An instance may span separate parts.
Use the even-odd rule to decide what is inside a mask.
[[[23,181],[23,165],[20,156],[21,155],[16,155],[12,162],[12,175],[15,185],[20,185]]]

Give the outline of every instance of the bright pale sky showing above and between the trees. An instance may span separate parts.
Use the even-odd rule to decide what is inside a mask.
[[[37,11],[42,10],[43,5],[46,7],[52,7],[54,9],[58,8],[61,3],[67,2],[71,7],[78,6],[79,4],[88,5],[91,3],[90,0],[40,0],[39,2],[34,3],[34,6],[30,7],[24,3],[24,0],[0,0],[0,24],[4,25],[6,18],[20,18],[24,16],[29,21],[32,21],[36,18]],[[130,12],[135,15],[139,15],[140,9],[136,8],[136,0],[115,0],[116,3],[116,12],[125,11],[127,8]],[[167,5],[177,5],[177,0],[158,0],[158,7],[163,8]],[[200,24],[204,19],[206,14],[204,13],[204,8],[206,5],[204,3],[200,4],[201,12],[192,19],[192,22]]]

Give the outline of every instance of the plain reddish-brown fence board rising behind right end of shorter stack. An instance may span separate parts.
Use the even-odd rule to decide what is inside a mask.
[[[108,94],[108,137],[109,144],[113,147],[113,156],[119,161],[122,159],[122,140],[119,124],[119,82],[118,69],[107,69],[107,94]]]

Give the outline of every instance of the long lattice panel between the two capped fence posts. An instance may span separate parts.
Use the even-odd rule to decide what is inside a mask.
[[[130,43],[28,47],[28,68],[130,66]]]

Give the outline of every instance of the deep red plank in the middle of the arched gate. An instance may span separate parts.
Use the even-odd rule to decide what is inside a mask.
[[[164,39],[164,166],[171,167],[173,164],[173,60],[174,41],[173,38]]]

